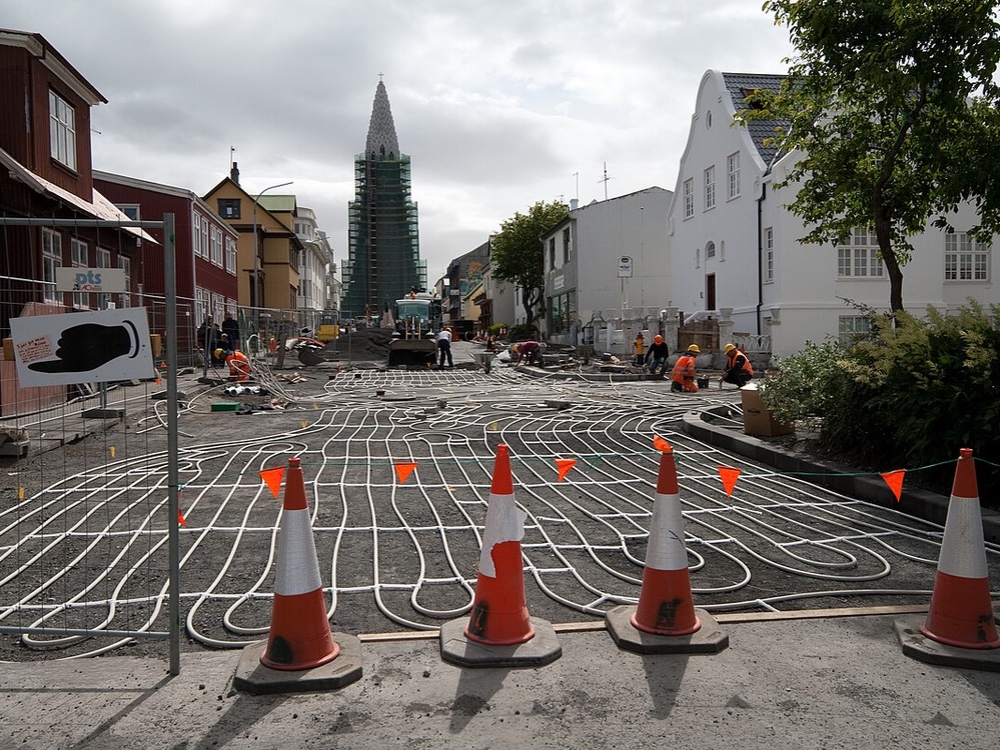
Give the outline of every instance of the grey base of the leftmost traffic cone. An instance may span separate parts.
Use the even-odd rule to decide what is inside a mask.
[[[336,659],[296,672],[265,666],[260,658],[267,641],[252,643],[240,654],[233,687],[253,695],[267,695],[338,690],[357,682],[361,679],[361,640],[347,633],[334,633],[333,637],[340,647]]]

